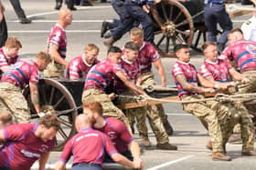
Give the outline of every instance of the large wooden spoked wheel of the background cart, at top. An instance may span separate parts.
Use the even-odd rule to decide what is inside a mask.
[[[177,1],[162,0],[151,9],[159,29],[155,30],[155,47],[160,55],[173,57],[176,44],[191,45],[194,25],[187,8]]]

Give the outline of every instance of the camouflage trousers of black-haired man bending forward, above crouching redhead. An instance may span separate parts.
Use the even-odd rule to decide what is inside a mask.
[[[113,105],[109,95],[106,95],[102,90],[91,88],[83,91],[81,101],[85,102],[87,100],[100,102],[103,108],[103,116],[114,117],[123,121],[128,130],[132,132],[128,118],[123,114],[122,110]]]

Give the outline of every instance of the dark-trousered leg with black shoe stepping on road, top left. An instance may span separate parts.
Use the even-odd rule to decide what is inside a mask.
[[[24,10],[21,8],[19,0],[10,0],[11,5],[14,7],[16,15],[21,24],[30,24],[31,19],[27,18]]]

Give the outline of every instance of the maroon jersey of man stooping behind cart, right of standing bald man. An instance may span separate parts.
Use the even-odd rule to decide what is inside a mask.
[[[69,80],[85,79],[91,67],[98,63],[100,63],[100,61],[95,60],[92,65],[88,65],[84,59],[84,55],[76,56],[69,61],[67,78],[69,78]]]

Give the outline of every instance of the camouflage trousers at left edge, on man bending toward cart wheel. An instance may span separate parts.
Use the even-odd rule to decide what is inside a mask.
[[[21,89],[9,83],[0,83],[0,112],[9,111],[16,123],[28,123],[30,112]]]

